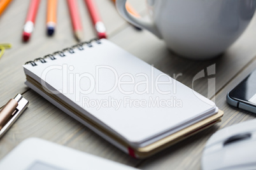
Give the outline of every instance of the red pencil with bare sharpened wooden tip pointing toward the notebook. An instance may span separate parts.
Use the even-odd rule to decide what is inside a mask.
[[[78,4],[76,0],[68,0],[69,13],[72,20],[73,30],[75,37],[78,41],[81,41],[83,37],[82,23],[80,15],[78,13]]]

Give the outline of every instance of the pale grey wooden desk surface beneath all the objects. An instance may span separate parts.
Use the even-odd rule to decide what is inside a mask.
[[[178,81],[190,88],[197,72],[215,64],[216,94],[214,90],[208,93],[207,77],[195,82],[194,89],[215,100],[217,106],[224,110],[222,122],[148,159],[133,159],[124,154],[24,84],[22,65],[25,62],[76,43],[66,1],[59,1],[57,31],[53,37],[46,36],[46,1],[41,1],[31,41],[23,43],[22,28],[29,0],[13,0],[0,16],[0,43],[13,44],[13,48],[6,49],[0,60],[0,107],[17,93],[22,93],[30,104],[8,133],[1,138],[0,159],[25,138],[38,137],[140,169],[200,169],[203,148],[211,134],[218,129],[255,117],[253,114],[227,105],[225,95],[256,67],[256,18],[253,18],[243,36],[227,49],[223,56],[214,60],[192,61],[173,55],[164,42],[146,30],[142,32],[135,30],[118,15],[110,0],[96,0],[96,2],[108,29],[110,41],[172,77],[181,73]],[[79,4],[86,41],[96,34],[85,3],[79,0]],[[146,15],[145,1],[132,0],[131,4],[141,15]]]

